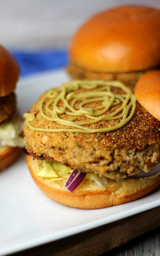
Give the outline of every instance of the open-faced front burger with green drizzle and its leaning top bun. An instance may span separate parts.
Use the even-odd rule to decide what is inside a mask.
[[[160,184],[159,84],[159,71],[140,78],[135,94],[141,105],[119,82],[73,81],[41,95],[24,127],[27,164],[40,189],[57,202],[83,209],[124,204],[155,189]],[[112,93],[117,98],[101,114]],[[88,123],[97,114],[101,119]],[[105,114],[112,118],[104,119]],[[66,124],[68,118],[74,126]],[[83,130],[78,130],[80,122]]]

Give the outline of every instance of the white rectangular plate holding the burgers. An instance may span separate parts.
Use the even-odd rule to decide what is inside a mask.
[[[20,113],[38,96],[68,81],[65,71],[23,78],[18,84]],[[160,190],[137,201],[98,210],[80,210],[52,201],[32,180],[25,154],[0,172],[0,255],[74,235],[160,205]]]

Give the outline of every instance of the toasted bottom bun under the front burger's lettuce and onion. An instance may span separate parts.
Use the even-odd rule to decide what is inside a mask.
[[[106,190],[101,190],[94,181],[82,182],[75,191],[63,188],[64,182],[50,181],[36,175],[37,161],[26,157],[27,165],[37,186],[53,200],[81,209],[98,209],[124,204],[147,195],[160,184],[160,175],[151,178],[116,181],[108,179]]]

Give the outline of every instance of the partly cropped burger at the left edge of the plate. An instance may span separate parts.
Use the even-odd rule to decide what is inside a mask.
[[[25,141],[20,137],[23,122],[16,110],[14,90],[20,68],[14,57],[0,46],[0,170],[20,155]]]

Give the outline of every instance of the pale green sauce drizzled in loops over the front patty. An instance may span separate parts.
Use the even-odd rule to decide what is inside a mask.
[[[124,94],[112,93],[111,87],[121,88],[124,91]],[[90,89],[91,91],[75,93],[75,91],[80,88]],[[44,103],[45,100],[48,100],[46,104]],[[63,107],[58,107],[58,102],[60,100],[63,102]],[[74,108],[77,101],[80,101],[78,110]],[[97,101],[101,101],[100,106],[90,108],[83,107],[87,103]],[[116,109],[116,111],[110,115],[106,115],[109,108],[118,104],[120,104],[120,107]],[[53,88],[46,92],[39,106],[39,112],[43,118],[63,126],[71,126],[73,127],[72,129],[36,128],[30,124],[30,122],[33,122],[36,118],[33,113],[26,113],[24,114],[24,117],[26,118],[26,125],[33,131],[83,133],[110,132],[122,127],[132,118],[135,106],[135,96],[132,94],[130,89],[120,82],[76,80],[64,83],[59,88]],[[45,109],[45,113],[48,113],[50,116],[44,114],[43,108]],[[100,111],[98,112],[94,111],[99,109]],[[61,114],[67,114],[71,117],[68,119],[62,119],[59,116]],[[75,122],[77,116],[85,116],[89,121]],[[117,119],[119,120],[119,123],[111,127],[100,129],[85,127],[87,124],[95,124],[99,121],[107,122],[108,120]]]

